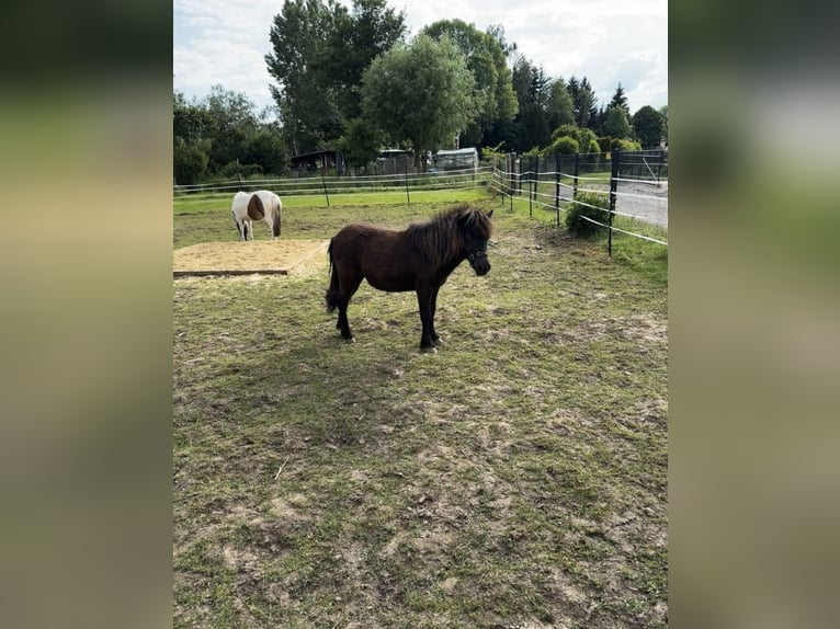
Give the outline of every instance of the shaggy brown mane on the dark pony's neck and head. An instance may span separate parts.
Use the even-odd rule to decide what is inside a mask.
[[[465,230],[489,240],[492,222],[484,211],[468,205],[458,205],[425,222],[410,225],[406,236],[430,263],[436,265],[445,264],[458,254],[464,245]]]

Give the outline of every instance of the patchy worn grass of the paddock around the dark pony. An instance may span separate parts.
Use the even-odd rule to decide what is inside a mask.
[[[667,626],[666,262],[473,198],[492,270],[441,289],[434,354],[366,284],[342,343],[326,264],[174,281],[175,627]],[[284,203],[283,238],[446,205]],[[227,198],[174,215],[236,238]]]

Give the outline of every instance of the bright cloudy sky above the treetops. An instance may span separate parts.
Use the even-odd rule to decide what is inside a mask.
[[[339,0],[352,7],[352,0]],[[506,38],[553,79],[587,77],[599,105],[621,83],[631,113],[668,104],[668,0],[388,0],[405,11],[409,36],[459,19]],[[211,87],[273,106],[264,57],[282,0],[173,0],[173,89],[203,99]]]

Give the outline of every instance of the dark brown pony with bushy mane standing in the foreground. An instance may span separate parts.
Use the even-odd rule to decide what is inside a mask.
[[[438,290],[464,260],[476,275],[487,275],[487,241],[492,233],[492,210],[485,214],[459,205],[433,219],[410,225],[404,231],[385,229],[367,222],[354,222],[330,240],[330,287],[327,311],[339,310],[336,328],[341,336],[353,341],[348,322],[348,305],[362,279],[379,290],[417,291],[422,350],[441,344],[434,330]]]

